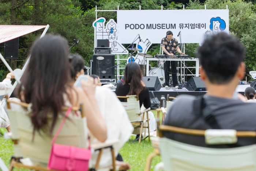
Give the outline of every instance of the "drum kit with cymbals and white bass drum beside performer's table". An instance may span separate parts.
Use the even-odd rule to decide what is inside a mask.
[[[142,51],[142,49],[137,49],[137,48],[128,48],[128,49],[132,50],[132,51]],[[150,55],[150,54],[147,54],[147,53],[137,53],[137,54],[139,56],[143,57],[143,64],[142,64],[143,68],[142,67],[140,67],[140,68],[142,69],[143,76],[146,76],[146,71],[145,71],[146,62],[145,62],[145,58],[153,58],[153,56]],[[163,69],[163,61],[158,61],[158,67],[150,69],[148,76],[153,76],[153,77],[158,76],[158,79],[159,79],[160,83],[161,84],[165,83],[165,71]]]

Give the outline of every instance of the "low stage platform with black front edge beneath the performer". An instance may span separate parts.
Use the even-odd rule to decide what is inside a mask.
[[[244,95],[244,91],[247,87],[250,87],[250,84],[241,84],[238,85],[236,88],[236,92],[239,92],[240,94]],[[115,90],[113,90],[115,91]],[[204,95],[207,93],[207,91],[188,91],[186,88],[182,89],[175,89],[173,90],[172,88],[166,89],[166,88],[161,88],[159,91],[154,91],[155,95],[157,95],[157,98],[160,100],[161,96],[164,95],[165,98],[167,97],[167,94],[169,94],[170,97],[176,97],[181,94],[188,94],[188,95],[193,95],[193,96],[200,96]],[[150,97],[152,98],[152,93],[150,91]]]

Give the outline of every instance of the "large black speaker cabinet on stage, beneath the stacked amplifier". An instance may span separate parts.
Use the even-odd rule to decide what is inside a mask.
[[[115,79],[114,64],[114,54],[94,54],[92,74],[98,75],[100,79]]]

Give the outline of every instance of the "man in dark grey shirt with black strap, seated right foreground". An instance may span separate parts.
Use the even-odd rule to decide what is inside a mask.
[[[197,50],[201,79],[207,87],[207,95],[203,98],[207,111],[217,121],[220,129],[238,131],[256,130],[256,104],[244,103],[233,99],[238,81],[244,78],[245,47],[232,35],[219,33],[208,37]],[[180,95],[168,110],[164,125],[189,129],[215,129],[211,122],[204,119],[203,107],[194,108],[195,96]],[[203,106],[203,105],[201,105]],[[201,111],[202,113],[199,114]],[[204,137],[185,134],[168,133],[164,136],[187,144],[209,147]],[[251,145],[256,138],[238,138],[236,146]],[[215,148],[228,148],[229,145],[211,145]]]

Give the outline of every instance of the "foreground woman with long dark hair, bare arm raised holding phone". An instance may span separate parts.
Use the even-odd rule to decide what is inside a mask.
[[[19,98],[32,103],[30,118],[34,133],[44,131],[50,135],[59,115],[65,115],[63,106],[79,107],[83,103],[83,114],[90,132],[103,142],[107,131],[94,97],[94,80],[88,77],[82,88],[73,87],[68,57],[66,39],[56,35],[37,39],[31,47],[30,61],[21,78]],[[52,123],[48,123],[49,115],[53,118]]]

